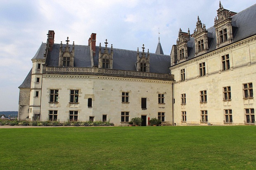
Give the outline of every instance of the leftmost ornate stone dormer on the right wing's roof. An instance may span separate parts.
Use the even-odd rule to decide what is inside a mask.
[[[187,60],[187,41],[190,39],[190,30],[187,32],[182,32],[180,29],[179,37],[177,39],[177,53],[178,53],[178,62]]]

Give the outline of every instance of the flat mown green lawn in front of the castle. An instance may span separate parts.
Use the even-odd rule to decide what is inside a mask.
[[[0,129],[0,169],[256,168],[256,126]]]

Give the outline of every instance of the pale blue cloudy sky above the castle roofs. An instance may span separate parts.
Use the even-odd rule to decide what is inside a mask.
[[[255,0],[222,0],[225,9],[239,12]],[[48,30],[55,43],[88,45],[96,33],[96,46],[107,39],[113,48],[155,53],[160,37],[170,55],[178,32],[196,28],[199,16],[206,28],[214,25],[219,0],[1,0],[0,6],[0,111],[18,111],[19,85],[32,67]],[[159,34],[160,32],[160,34]]]

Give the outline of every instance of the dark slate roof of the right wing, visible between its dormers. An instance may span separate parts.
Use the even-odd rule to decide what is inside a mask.
[[[245,39],[256,34],[256,4],[231,16],[233,27],[232,43]],[[214,26],[206,29],[208,31],[209,51],[216,50],[216,32]],[[188,60],[195,57],[194,37],[187,42]]]

